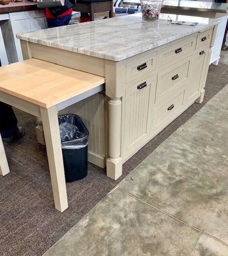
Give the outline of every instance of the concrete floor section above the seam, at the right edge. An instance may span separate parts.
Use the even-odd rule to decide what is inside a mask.
[[[228,85],[119,184],[226,244],[227,113]]]

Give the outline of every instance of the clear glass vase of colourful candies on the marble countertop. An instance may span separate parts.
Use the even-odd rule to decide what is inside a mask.
[[[140,0],[143,20],[157,20],[163,0]]]

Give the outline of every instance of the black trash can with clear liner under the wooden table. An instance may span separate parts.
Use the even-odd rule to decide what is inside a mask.
[[[88,169],[88,130],[74,114],[58,116],[66,182],[81,180]]]

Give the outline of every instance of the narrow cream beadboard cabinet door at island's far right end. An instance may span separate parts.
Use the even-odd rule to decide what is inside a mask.
[[[206,69],[208,69],[207,64],[207,58],[208,58],[208,48],[201,48],[196,51],[196,53],[193,56],[193,71],[189,83],[189,92],[188,92],[188,98],[189,102],[194,102],[194,100],[197,99],[199,96],[198,92],[203,87],[202,83],[204,81],[204,74]]]

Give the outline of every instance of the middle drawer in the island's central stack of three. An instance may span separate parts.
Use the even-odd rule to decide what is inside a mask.
[[[192,56],[158,73],[155,103],[162,102],[189,81]]]

